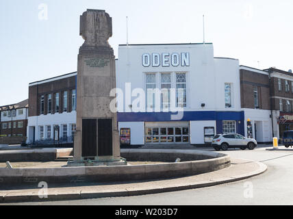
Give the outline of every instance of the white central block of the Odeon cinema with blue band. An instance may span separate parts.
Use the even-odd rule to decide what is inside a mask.
[[[118,127],[128,144],[205,144],[216,133],[245,136],[239,61],[214,57],[211,43],[120,45],[116,81],[125,100],[118,106]]]

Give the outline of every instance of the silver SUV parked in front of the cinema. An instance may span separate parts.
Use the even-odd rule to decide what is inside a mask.
[[[240,148],[242,150],[253,150],[257,146],[257,141],[253,138],[245,138],[239,134],[220,134],[212,140],[212,146],[216,151],[227,151],[229,148]]]

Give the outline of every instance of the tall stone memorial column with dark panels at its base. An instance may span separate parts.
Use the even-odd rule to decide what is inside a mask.
[[[77,64],[77,131],[72,165],[125,163],[120,157],[117,114],[110,110],[114,99],[110,90],[116,88],[114,51],[108,42],[112,18],[104,10],[87,10],[80,17],[80,35],[85,42]]]

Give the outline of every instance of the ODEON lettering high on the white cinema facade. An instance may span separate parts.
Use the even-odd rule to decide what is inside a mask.
[[[190,66],[189,53],[144,53],[142,54],[142,66],[144,67],[169,67],[169,66]]]

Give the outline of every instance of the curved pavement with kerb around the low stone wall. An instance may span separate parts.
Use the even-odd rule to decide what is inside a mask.
[[[84,198],[137,196],[190,190],[248,179],[265,172],[266,169],[266,164],[261,162],[255,162],[249,159],[235,159],[231,157],[231,166],[228,168],[190,177],[155,181],[127,181],[123,183],[52,184],[48,185],[48,188],[44,188],[44,185],[38,187],[37,184],[3,189],[0,188],[0,203],[45,202]]]

